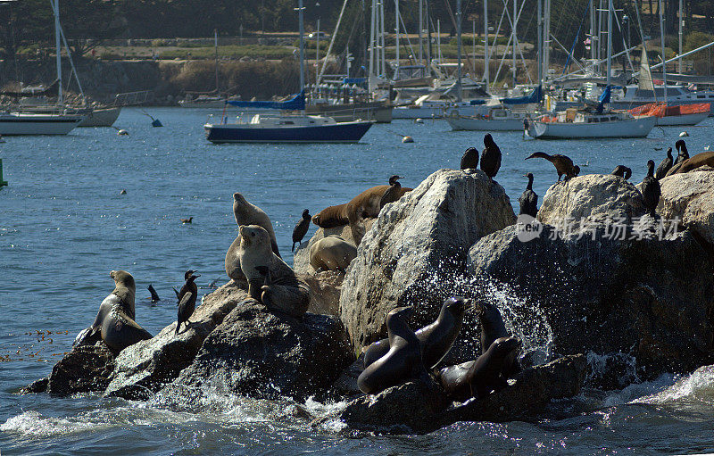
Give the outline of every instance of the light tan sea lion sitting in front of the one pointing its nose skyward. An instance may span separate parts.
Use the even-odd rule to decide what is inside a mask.
[[[270,250],[270,235],[258,225],[241,225],[238,256],[248,289],[260,289],[260,301],[272,311],[302,318],[310,303],[310,287],[295,277],[295,272]],[[268,268],[269,285],[257,267]],[[257,296],[257,291],[253,291]],[[256,298],[257,299],[257,298]]]

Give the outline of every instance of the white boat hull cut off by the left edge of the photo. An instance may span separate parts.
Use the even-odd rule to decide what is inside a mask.
[[[0,114],[0,135],[66,135],[84,119],[73,114],[36,114],[9,112]]]

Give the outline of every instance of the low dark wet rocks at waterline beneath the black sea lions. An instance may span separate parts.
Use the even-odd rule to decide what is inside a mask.
[[[552,399],[577,395],[586,371],[584,355],[566,356],[524,369],[499,392],[450,408],[441,386],[411,381],[353,400],[340,419],[356,429],[392,434],[426,434],[458,421],[534,420]]]

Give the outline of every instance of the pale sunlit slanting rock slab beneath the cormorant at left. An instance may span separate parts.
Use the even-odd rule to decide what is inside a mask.
[[[112,372],[112,382],[104,394],[132,400],[146,400],[170,383],[194,361],[203,339],[247,297],[245,290],[233,281],[212,294],[191,316],[190,326],[176,333],[176,322],[164,327],[154,338],[138,342],[122,350]]]

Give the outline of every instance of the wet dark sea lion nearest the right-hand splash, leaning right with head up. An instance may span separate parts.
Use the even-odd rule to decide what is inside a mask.
[[[520,340],[516,337],[498,338],[476,361],[441,369],[437,376],[439,382],[446,394],[458,400],[463,401],[469,397],[483,399],[492,391],[500,391],[508,386],[508,379],[502,374],[502,366],[515,358],[519,347]]]

